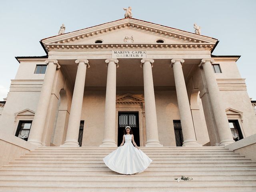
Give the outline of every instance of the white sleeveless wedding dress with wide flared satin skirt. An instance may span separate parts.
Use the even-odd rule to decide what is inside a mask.
[[[124,145],[104,157],[104,163],[111,170],[121,174],[143,172],[152,160],[142,150],[133,146],[132,135],[124,135],[124,138]]]

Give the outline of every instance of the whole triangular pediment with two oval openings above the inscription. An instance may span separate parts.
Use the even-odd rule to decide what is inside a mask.
[[[102,40],[102,43],[95,43],[97,40]],[[196,44],[198,47],[209,46],[212,48],[217,42],[216,39],[207,36],[134,18],[126,18],[46,38],[42,40],[42,43],[48,50],[50,48],[111,47],[106,46],[107,44],[122,44],[122,46],[126,44],[134,44],[134,46],[139,44],[149,44],[148,46],[150,44],[159,44],[161,46],[161,43],[156,42],[157,40],[163,40],[162,45],[164,44],[164,47],[168,44],[176,44],[177,47],[182,44],[187,46]]]

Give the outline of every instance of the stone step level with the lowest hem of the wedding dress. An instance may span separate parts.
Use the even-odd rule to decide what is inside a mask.
[[[183,176],[189,176],[189,175],[255,175],[255,170],[209,170],[209,171],[190,171],[190,170],[179,170],[179,171],[159,171],[159,170],[145,170],[144,172],[140,173],[139,175],[148,175],[148,176],[173,176],[173,175],[183,175]],[[106,170],[106,171],[98,171],[98,170],[91,170],[84,172],[84,170],[1,170],[0,175],[68,175],[68,176],[83,176],[86,175],[122,175],[118,174],[114,171]]]

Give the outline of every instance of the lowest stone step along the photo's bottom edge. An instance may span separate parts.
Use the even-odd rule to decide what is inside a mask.
[[[185,182],[185,181],[184,181]],[[184,182],[177,182],[176,185],[172,186],[117,186],[108,187],[105,186],[53,186],[49,188],[48,186],[38,185],[38,186],[0,186],[0,192],[12,191],[12,192],[253,192],[256,191],[254,186],[183,186]]]

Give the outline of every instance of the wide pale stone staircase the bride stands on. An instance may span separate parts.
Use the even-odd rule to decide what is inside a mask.
[[[106,167],[114,149],[39,147],[2,167],[0,192],[256,191],[256,162],[224,147],[140,147],[153,162],[135,175]]]

